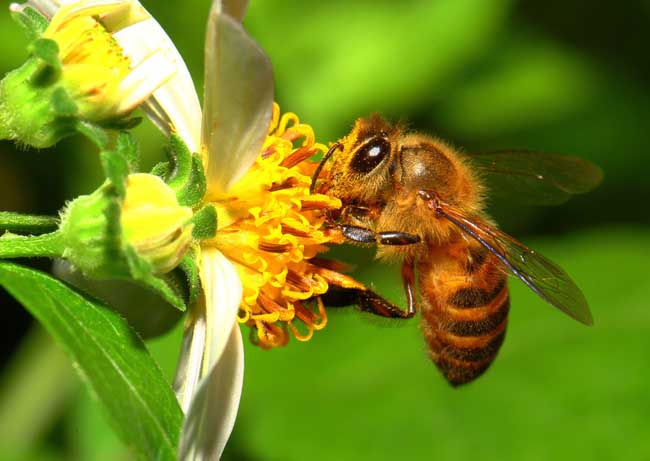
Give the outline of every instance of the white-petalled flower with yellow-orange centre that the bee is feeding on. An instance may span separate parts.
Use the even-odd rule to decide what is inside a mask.
[[[236,320],[265,348],[307,340],[325,326],[318,295],[330,281],[361,287],[317,258],[334,238],[327,211],[341,205],[310,194],[307,160],[326,147],[273,104],[271,65],[240,24],[244,3],[213,2],[201,139],[187,141],[202,146],[218,226],[201,242],[204,296],[190,307],[176,375],[183,460],[217,459],[232,431],[244,367]]]

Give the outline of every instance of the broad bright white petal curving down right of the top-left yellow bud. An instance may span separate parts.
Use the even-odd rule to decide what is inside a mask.
[[[200,152],[201,105],[192,76],[169,36],[154,19],[138,22],[114,34],[133,62],[163,52],[176,75],[153,92],[144,109],[152,121],[168,133],[174,130],[192,152]]]

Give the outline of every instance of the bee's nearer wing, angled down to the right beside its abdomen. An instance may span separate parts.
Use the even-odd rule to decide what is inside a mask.
[[[436,211],[492,252],[544,301],[585,325],[593,324],[585,296],[561,267],[480,218],[468,219],[443,205]]]

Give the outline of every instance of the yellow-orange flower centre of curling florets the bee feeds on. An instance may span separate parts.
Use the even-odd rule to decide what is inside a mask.
[[[309,192],[311,159],[326,150],[309,125],[292,113],[280,116],[274,105],[255,164],[212,202],[218,231],[206,244],[235,264],[244,287],[238,320],[265,349],[287,344],[290,336],[309,340],[327,323],[319,296],[330,283],[353,281],[317,257],[336,243],[327,213],[341,207],[336,198]]]

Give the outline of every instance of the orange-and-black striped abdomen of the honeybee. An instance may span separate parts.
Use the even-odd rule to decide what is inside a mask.
[[[432,360],[458,386],[487,370],[503,343],[506,273],[478,243],[432,247],[430,256],[418,263],[422,329]]]

